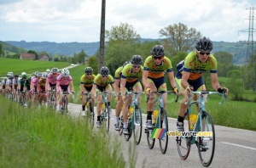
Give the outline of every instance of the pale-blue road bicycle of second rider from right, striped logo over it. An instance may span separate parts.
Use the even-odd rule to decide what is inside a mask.
[[[173,91],[151,92],[151,93],[155,93],[158,95],[157,98],[154,99],[153,128],[145,129],[145,133],[147,133],[148,148],[150,148],[150,149],[154,148],[155,138],[158,138],[159,143],[160,143],[160,151],[162,154],[166,154],[166,150],[167,150],[167,146],[168,146],[167,132],[169,131],[166,109],[164,109],[164,102],[163,102],[163,98],[162,98],[162,95],[165,92],[175,93]],[[148,103],[148,98],[146,101],[147,103]],[[176,94],[175,102],[177,102],[177,99],[178,99],[178,94]],[[157,106],[157,103],[158,103],[158,106]]]

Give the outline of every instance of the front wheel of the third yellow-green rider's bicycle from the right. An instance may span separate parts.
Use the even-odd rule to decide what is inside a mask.
[[[134,110],[135,115],[134,125],[133,125],[133,137],[135,143],[138,145],[141,142],[142,132],[143,132],[143,118],[141,113],[141,108],[136,108]]]

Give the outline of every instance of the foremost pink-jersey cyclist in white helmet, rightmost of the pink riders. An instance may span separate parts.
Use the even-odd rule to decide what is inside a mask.
[[[57,83],[56,83],[56,89],[57,91],[60,92],[70,92],[69,86],[71,87],[71,91],[74,93],[74,87],[73,87],[73,79],[72,76],[69,75],[69,70],[67,68],[64,68],[61,70],[61,75],[57,76]],[[57,105],[57,110],[60,110],[60,105],[61,109],[62,108],[62,99],[64,95],[61,94],[59,97],[59,104]],[[69,94],[67,95],[67,104],[69,100]]]

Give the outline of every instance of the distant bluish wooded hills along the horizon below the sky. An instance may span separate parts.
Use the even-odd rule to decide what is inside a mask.
[[[142,39],[144,41],[159,41],[160,39]],[[26,42],[26,41],[7,41],[7,43],[26,50],[34,50],[36,52],[46,51],[51,54],[63,54],[73,56],[73,53],[79,53],[83,49],[84,52],[91,56],[94,55],[99,48],[100,42]],[[213,42],[213,53],[225,51],[233,54],[233,64],[242,64],[245,62],[245,53],[247,51],[246,42]]]

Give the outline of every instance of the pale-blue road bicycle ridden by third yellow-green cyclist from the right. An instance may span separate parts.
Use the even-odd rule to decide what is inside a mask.
[[[138,104],[137,97],[139,95],[143,94],[143,92],[126,92],[125,96],[131,97],[131,102],[128,109],[128,135],[125,135],[125,140],[129,141],[131,134],[133,132],[133,137],[135,143],[138,145],[141,141],[142,137],[142,130],[143,130],[143,118],[142,118],[142,111]],[[121,116],[121,119],[119,120],[119,126],[120,131],[119,135],[122,135],[123,133],[123,126],[124,126],[124,120],[123,116]]]

